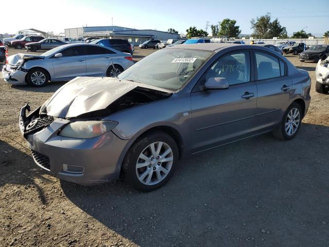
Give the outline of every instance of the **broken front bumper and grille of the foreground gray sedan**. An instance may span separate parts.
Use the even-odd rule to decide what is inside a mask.
[[[131,140],[122,140],[112,131],[89,138],[60,136],[70,123],[63,118],[31,112],[26,104],[20,113],[20,131],[32,151],[34,162],[50,174],[81,185],[99,184],[119,178],[123,151]]]

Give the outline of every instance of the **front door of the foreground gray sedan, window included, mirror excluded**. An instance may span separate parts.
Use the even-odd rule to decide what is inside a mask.
[[[193,152],[243,138],[255,128],[257,86],[250,79],[250,58],[249,50],[221,56],[191,93]],[[211,77],[227,78],[228,89],[205,89]]]

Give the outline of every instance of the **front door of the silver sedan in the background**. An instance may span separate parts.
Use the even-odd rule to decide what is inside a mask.
[[[70,46],[61,53],[62,58],[51,58],[56,80],[70,80],[77,76],[86,76],[85,45]]]

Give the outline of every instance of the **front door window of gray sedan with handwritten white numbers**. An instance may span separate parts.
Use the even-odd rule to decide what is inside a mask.
[[[221,56],[204,75],[204,82],[211,77],[226,78],[229,85],[250,81],[249,51],[231,52]]]

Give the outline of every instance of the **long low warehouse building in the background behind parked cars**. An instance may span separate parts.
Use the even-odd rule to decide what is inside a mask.
[[[65,29],[65,37],[98,37],[107,39],[126,39],[131,44],[139,45],[147,40],[180,39],[179,34],[152,29],[134,29],[119,26],[77,27]]]

